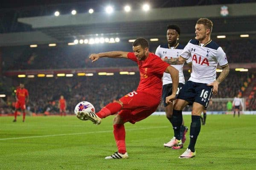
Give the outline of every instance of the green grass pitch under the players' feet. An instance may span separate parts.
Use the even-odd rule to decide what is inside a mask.
[[[189,127],[191,116],[183,116]],[[113,116],[101,125],[75,116],[0,117],[0,170],[254,170],[256,115],[207,115],[196,156],[163,147],[173,131],[165,116],[125,124],[129,159],[105,160],[117,151]]]

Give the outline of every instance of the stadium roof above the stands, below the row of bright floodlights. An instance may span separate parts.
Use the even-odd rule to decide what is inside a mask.
[[[154,8],[148,12],[133,10],[129,14],[116,11],[111,15],[95,12],[19,18],[20,23],[31,25],[34,31],[0,34],[0,46],[67,43],[95,37],[96,34],[118,36],[121,40],[164,38],[168,24],[180,26],[181,37],[192,38],[195,22],[200,17],[209,17],[213,21],[213,36],[225,34],[232,38],[239,34],[250,34],[251,38],[256,37],[256,3],[227,4],[227,17],[221,16],[221,6]]]

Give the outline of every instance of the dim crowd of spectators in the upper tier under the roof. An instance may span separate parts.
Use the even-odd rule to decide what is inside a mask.
[[[220,41],[221,47],[227,54],[230,63],[256,62],[252,54],[256,54],[256,40]],[[154,52],[159,44],[151,43],[150,50]],[[91,63],[88,59],[92,53],[105,51],[132,51],[131,43],[75,45],[63,47],[41,48],[3,48],[4,70],[31,70],[31,69],[60,69],[60,68],[96,68],[134,66],[134,62],[126,59],[101,59]],[[15,56],[15,57],[13,57]],[[11,62],[7,60],[13,58]],[[5,62],[6,60],[6,62]]]

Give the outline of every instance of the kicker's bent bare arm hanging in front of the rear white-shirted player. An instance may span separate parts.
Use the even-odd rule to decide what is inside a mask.
[[[173,100],[175,100],[177,88],[179,84],[179,71],[171,65],[166,68],[167,73],[169,73],[172,77],[172,94],[166,97],[166,103],[170,104]]]

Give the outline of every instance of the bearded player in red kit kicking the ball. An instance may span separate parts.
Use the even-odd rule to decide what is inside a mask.
[[[95,62],[101,57],[128,58],[137,62],[140,70],[140,83],[137,91],[132,91],[116,102],[109,103],[98,113],[81,111],[78,118],[81,120],[91,120],[96,125],[101,123],[101,119],[116,114],[113,120],[113,133],[116,139],[118,152],[105,159],[126,159],[128,153],[125,147],[125,127],[124,123],[134,124],[150,116],[156,111],[162,95],[162,77],[167,72],[172,77],[172,94],[169,101],[175,99],[179,83],[179,72],[168,63],[163,62],[160,57],[149,52],[148,41],[138,38],[133,42],[134,52],[111,51],[106,53],[92,54],[90,59]]]

